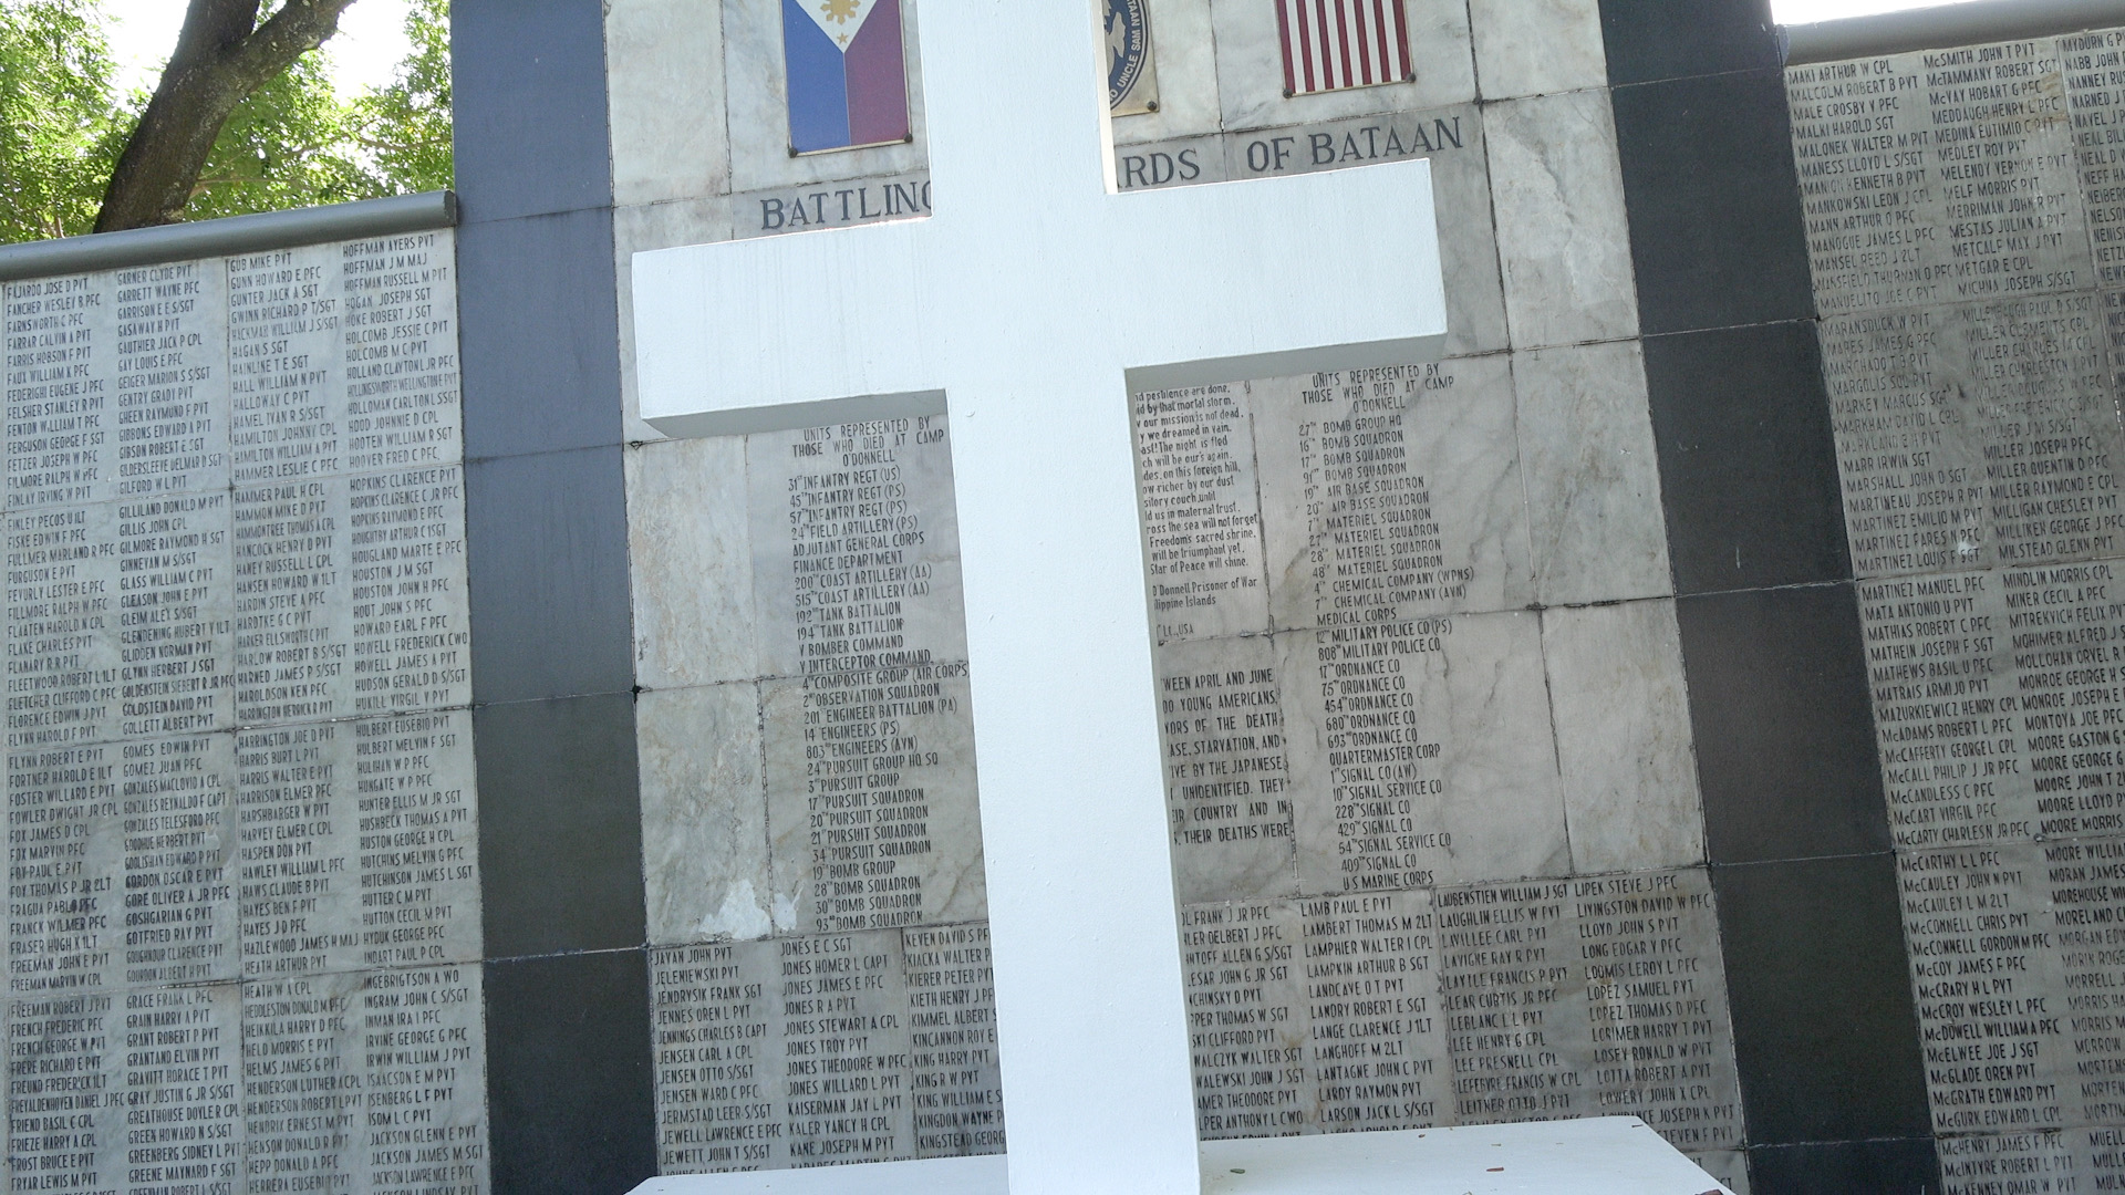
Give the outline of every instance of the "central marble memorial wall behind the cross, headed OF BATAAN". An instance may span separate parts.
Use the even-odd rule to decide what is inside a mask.
[[[1445,361],[1133,404],[1198,1129],[1636,1114],[1745,1189],[1598,19],[1400,17],[1292,94],[1273,4],[1105,6],[1124,191],[1430,157],[1447,268]],[[858,19],[910,140],[814,153],[771,6],[606,15],[665,1174],[1003,1144],[950,395],[631,406],[633,253],[929,208]]]

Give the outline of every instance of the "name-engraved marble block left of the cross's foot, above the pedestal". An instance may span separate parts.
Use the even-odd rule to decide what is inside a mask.
[[[999,1152],[982,923],[652,950],[659,1165]]]

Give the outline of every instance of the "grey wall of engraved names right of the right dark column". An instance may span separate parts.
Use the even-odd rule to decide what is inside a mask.
[[[1787,96],[1944,1189],[2114,1189],[2125,32]]]

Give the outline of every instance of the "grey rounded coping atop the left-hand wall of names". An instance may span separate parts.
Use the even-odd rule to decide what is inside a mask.
[[[62,236],[57,240],[28,240],[23,245],[0,245],[0,283],[47,279],[53,274],[87,274],[89,270],[119,270],[149,262],[259,253],[266,249],[319,245],[323,240],[427,232],[455,223],[457,196],[450,191],[423,191],[419,196],[389,196],[321,208],[232,215],[198,223],[166,223],[125,232]]]

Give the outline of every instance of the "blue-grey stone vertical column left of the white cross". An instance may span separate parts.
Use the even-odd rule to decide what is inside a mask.
[[[450,28],[493,1182],[620,1195],[657,1125],[604,4]]]

